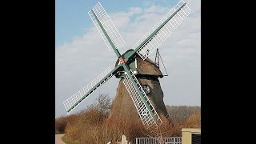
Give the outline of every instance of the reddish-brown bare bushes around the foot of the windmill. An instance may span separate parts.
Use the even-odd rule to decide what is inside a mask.
[[[163,121],[162,126],[152,132],[146,130],[138,118],[108,118],[111,99],[101,94],[97,100],[78,114],[57,118],[55,132],[65,131],[68,141],[102,144],[121,141],[122,134],[125,134],[128,141],[134,143],[138,137],[181,136],[184,127],[201,127],[200,106],[166,106],[170,121]]]

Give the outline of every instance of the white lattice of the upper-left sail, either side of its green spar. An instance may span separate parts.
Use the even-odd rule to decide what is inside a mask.
[[[114,23],[111,21],[110,16],[106,14],[106,11],[102,7],[101,3],[98,2],[96,6],[92,9],[94,11],[94,14],[98,18],[98,21],[102,24],[103,28],[106,30],[106,34],[108,37],[110,37],[110,40],[113,42],[116,49],[121,48],[126,42],[123,40],[121,34],[119,34],[117,28],[114,26]],[[94,25],[97,27],[98,32],[102,35],[102,38],[104,42],[106,43],[106,46],[109,48],[109,50],[112,50],[112,46],[110,45],[110,42],[107,40],[106,35],[104,34],[101,26],[97,22],[96,18],[94,17],[94,14],[90,10],[88,14],[90,15],[90,18],[94,22]]]

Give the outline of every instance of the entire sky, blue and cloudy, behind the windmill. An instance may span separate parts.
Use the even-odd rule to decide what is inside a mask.
[[[89,14],[100,2],[131,49],[178,0],[56,0],[55,1],[55,118],[66,115],[63,103],[97,78],[114,69],[117,56],[110,51]],[[164,102],[170,106],[201,106],[201,1],[187,1],[192,10],[159,46],[168,76],[159,78]],[[154,60],[156,50],[150,55]],[[160,70],[165,73],[162,64]],[[94,104],[99,94],[114,98],[119,79],[112,77],[90,94],[71,114]]]

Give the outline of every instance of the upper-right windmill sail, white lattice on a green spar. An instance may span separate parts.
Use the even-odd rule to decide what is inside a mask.
[[[190,14],[191,10],[183,0],[178,2],[148,33],[146,33],[133,49],[145,60],[174,32],[174,30]]]

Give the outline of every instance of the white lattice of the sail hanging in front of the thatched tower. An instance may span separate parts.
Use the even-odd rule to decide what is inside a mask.
[[[151,126],[156,126],[156,127],[160,126],[162,124],[162,120],[158,116],[157,111],[154,110],[154,106],[152,106],[150,99],[146,96],[145,91],[142,89],[142,86],[138,82],[138,79],[135,77],[132,70],[130,70],[130,74],[132,75],[132,78],[136,82],[136,85],[139,87],[139,90],[142,91],[143,97],[146,99],[146,102],[151,109],[150,111],[152,111],[152,113],[154,114],[154,118],[156,118],[156,121],[155,121],[153,116],[150,114],[149,110],[147,109],[146,104],[143,102],[142,98],[138,94],[138,91],[135,89],[133,82],[131,82],[130,77],[127,74],[126,78],[124,78],[123,80],[123,83],[126,86],[126,90],[130,94],[131,99],[134,102],[136,110],[138,111],[138,115],[142,119],[143,125],[145,126],[146,129],[150,128]]]

